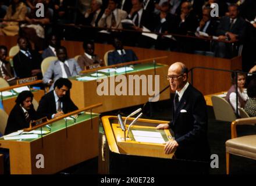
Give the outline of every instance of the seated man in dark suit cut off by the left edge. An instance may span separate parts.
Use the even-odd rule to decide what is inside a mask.
[[[0,46],[0,77],[8,81],[9,85],[15,85],[16,80],[11,80],[14,77],[14,72],[10,62],[6,60],[7,48]]]

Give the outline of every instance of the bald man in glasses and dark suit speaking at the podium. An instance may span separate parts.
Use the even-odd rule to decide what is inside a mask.
[[[175,91],[173,119],[170,123],[159,124],[157,129],[171,128],[175,140],[168,141],[165,153],[175,151],[177,159],[209,161],[207,139],[207,105],[204,96],[187,82],[188,69],[180,62],[173,63],[168,69],[167,79]]]

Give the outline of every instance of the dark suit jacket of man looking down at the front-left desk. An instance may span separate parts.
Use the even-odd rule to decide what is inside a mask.
[[[65,114],[78,109],[77,106],[74,105],[73,101],[70,99],[69,94],[66,94],[66,96],[62,98],[62,104],[62,110]],[[39,106],[37,108],[37,112],[41,117],[46,116],[48,119],[51,119],[52,115],[56,113],[56,110],[57,109],[54,98],[54,90],[52,90],[42,96],[39,102]]]

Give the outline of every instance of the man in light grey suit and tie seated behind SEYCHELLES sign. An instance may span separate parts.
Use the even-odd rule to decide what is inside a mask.
[[[50,90],[54,87],[54,82],[59,78],[68,78],[79,75],[81,68],[76,60],[67,58],[66,48],[61,46],[56,49],[58,60],[49,65],[47,71],[42,78],[44,84],[51,85]],[[53,77],[53,79],[52,79]]]

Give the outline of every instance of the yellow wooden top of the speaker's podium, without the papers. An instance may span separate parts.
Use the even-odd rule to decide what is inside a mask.
[[[168,123],[169,121],[162,120],[148,120],[148,119],[138,119],[134,126],[131,126],[129,131],[129,138],[124,138],[124,132],[118,124],[118,119],[116,116],[104,116],[101,118],[104,127],[106,140],[109,144],[109,149],[116,153],[123,153],[129,155],[137,156],[150,156],[155,158],[172,158],[173,153],[166,155],[163,148],[166,141],[172,140],[172,135],[169,130],[157,130],[155,127],[161,123]],[[125,117],[123,117],[125,120]],[[126,128],[129,126],[134,118],[127,120]],[[159,132],[165,141],[162,144],[157,142],[140,142],[134,140],[132,130],[140,131],[154,131]],[[127,135],[127,131],[126,131]]]

